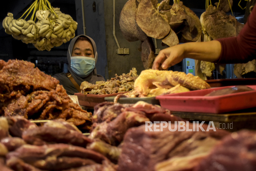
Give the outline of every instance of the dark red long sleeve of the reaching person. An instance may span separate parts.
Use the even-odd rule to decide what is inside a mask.
[[[237,37],[217,39],[221,56],[216,63],[246,63],[256,58],[256,7]]]

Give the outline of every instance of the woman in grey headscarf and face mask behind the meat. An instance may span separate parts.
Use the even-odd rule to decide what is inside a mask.
[[[60,81],[68,95],[80,92],[80,85],[87,81],[95,84],[97,81],[105,81],[101,75],[97,75],[95,64],[98,54],[96,44],[92,38],[79,35],[73,38],[68,47],[68,73],[55,74],[52,77]]]

